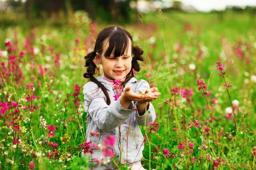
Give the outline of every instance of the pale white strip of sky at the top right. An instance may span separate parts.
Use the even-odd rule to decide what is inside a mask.
[[[170,2],[172,0],[163,0]],[[221,10],[226,6],[256,6],[256,0],[180,0],[184,5],[192,5],[198,11],[211,11],[212,9]]]

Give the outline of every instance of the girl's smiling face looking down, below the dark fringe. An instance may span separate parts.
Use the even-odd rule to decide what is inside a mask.
[[[109,42],[105,40],[103,42],[104,48],[102,54],[96,53],[96,60],[98,63],[102,64],[102,68],[104,71],[104,75],[107,79],[115,80],[115,79],[123,79],[130,71],[131,71],[131,48],[132,42],[129,40],[129,47],[125,51],[125,53],[120,57],[114,57],[114,49],[111,53],[110,57],[104,57],[106,50],[108,49]]]

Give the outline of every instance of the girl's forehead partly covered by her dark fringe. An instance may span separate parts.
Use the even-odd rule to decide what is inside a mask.
[[[132,52],[132,41],[127,37],[127,43],[121,42],[110,42],[109,38],[103,41],[102,54],[105,57],[119,57],[122,55],[131,55]],[[111,45],[110,45],[111,44]]]

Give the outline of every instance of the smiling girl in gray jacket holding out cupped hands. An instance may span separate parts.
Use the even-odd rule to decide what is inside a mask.
[[[101,146],[92,155],[91,161],[100,163],[93,169],[115,170],[110,158],[116,155],[117,163],[127,163],[131,170],[145,170],[140,163],[144,142],[139,125],[154,122],[156,115],[150,102],[160,93],[157,88],[149,88],[145,80],[134,78],[134,71],[140,71],[137,60],[144,60],[142,54],[128,31],[108,26],[98,34],[94,50],[84,57],[84,77],[90,79],[83,90],[86,137]],[[102,64],[102,77],[93,77],[98,70],[95,59]]]

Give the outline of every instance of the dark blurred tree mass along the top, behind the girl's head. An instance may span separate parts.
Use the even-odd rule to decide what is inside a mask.
[[[26,0],[25,11],[29,19],[31,16],[44,17],[44,14],[49,17],[51,14],[58,13],[59,10],[64,10],[67,15],[70,15],[69,10],[72,8],[72,11],[87,11],[93,20],[98,17],[108,23],[129,22],[131,12],[138,13],[137,8],[131,8],[131,1],[137,3],[137,0]],[[178,8],[179,6],[177,3]]]

